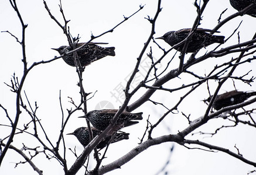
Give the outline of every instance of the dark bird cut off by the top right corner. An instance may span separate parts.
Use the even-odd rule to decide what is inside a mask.
[[[230,0],[231,6],[238,11],[243,10],[252,3],[254,3],[254,0]],[[245,12],[245,14],[256,17],[256,6]]]

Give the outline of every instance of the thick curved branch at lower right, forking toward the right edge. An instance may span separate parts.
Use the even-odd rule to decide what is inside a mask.
[[[223,113],[224,111],[229,111],[229,110],[233,110],[235,108],[238,107],[243,107],[243,106],[247,106],[248,104],[254,103],[256,101],[256,98],[245,101],[243,103],[240,104],[236,104],[233,106],[228,106],[228,107],[224,107],[219,111],[216,111],[215,113],[212,113],[209,115],[209,117],[207,118],[203,118],[200,117],[197,120],[194,120],[192,122],[190,122],[189,127],[187,127],[186,129],[184,129],[183,131],[179,132],[179,134],[176,135],[163,135],[163,136],[159,136],[158,138],[153,138],[153,139],[148,139],[147,141],[141,143],[141,145],[136,146],[134,149],[132,149],[130,152],[128,152],[126,155],[120,157],[120,159],[115,160],[114,162],[104,165],[103,167],[101,167],[98,172],[99,174],[104,174],[107,173],[109,171],[115,170],[120,168],[123,164],[129,162],[129,160],[133,159],[136,155],[138,155],[139,153],[141,153],[142,151],[144,151],[145,149],[149,148],[150,146],[153,145],[158,145],[160,143],[164,143],[164,142],[176,142],[179,143],[180,145],[184,145],[184,143],[194,143],[194,144],[198,144],[198,145],[203,145],[206,146],[207,148],[210,149],[216,149],[216,150],[221,150],[223,152],[228,153],[231,156],[234,156],[240,160],[242,160],[245,163],[251,164],[253,166],[256,166],[255,162],[251,162],[250,160],[244,159],[244,157],[237,155],[233,152],[230,152],[228,149],[224,149],[221,148],[219,146],[213,146],[213,145],[209,145],[207,143],[203,143],[200,141],[189,141],[189,140],[183,140],[183,138],[191,133],[192,131],[194,131],[194,129],[199,128],[201,125],[205,124],[207,121],[213,119],[214,117],[220,115],[221,113]]]

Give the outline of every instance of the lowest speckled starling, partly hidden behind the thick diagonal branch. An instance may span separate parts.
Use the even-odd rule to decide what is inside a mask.
[[[98,129],[91,127],[91,131],[93,132],[93,137],[101,134],[101,131]],[[80,127],[74,130],[74,132],[71,132],[67,135],[74,135],[78,139],[78,141],[86,147],[90,143],[90,135],[87,127]],[[115,143],[122,141],[123,139],[129,139],[129,133],[117,131],[112,133],[111,135],[107,135],[105,138],[103,138],[100,143],[96,146],[97,149],[103,149],[105,146],[108,145],[108,143]]]

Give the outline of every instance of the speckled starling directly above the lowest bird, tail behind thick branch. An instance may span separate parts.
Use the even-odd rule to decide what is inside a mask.
[[[88,112],[86,115],[79,118],[87,118],[91,124],[98,130],[104,131],[108,127],[112,118],[118,110],[115,109],[103,109],[103,110],[93,110]],[[114,125],[114,130],[128,127],[134,124],[137,124],[138,121],[133,120],[142,120],[142,113],[129,113],[127,111],[122,112],[118,117],[117,122]]]

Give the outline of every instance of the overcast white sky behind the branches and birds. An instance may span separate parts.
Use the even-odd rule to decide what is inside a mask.
[[[53,15],[63,23],[62,15],[59,12],[59,1],[46,1]],[[156,34],[154,37],[162,36],[166,31],[179,30],[183,28],[192,27],[194,19],[196,17],[196,9],[193,6],[191,0],[186,1],[162,1],[162,12],[156,22]],[[57,48],[62,45],[67,45],[66,37],[63,31],[57,26],[56,23],[50,19],[46,12],[43,1],[23,0],[17,1],[19,10],[23,17],[24,23],[28,24],[26,29],[26,55],[28,65],[33,62],[50,60],[55,55],[59,55],[56,51],[50,48]],[[118,94],[116,88],[120,85],[125,86],[125,80],[136,64],[136,58],[144,46],[146,39],[151,31],[151,24],[148,20],[144,19],[147,15],[153,17],[156,12],[157,1],[62,1],[63,10],[66,18],[70,20],[69,26],[73,36],[79,34],[80,41],[87,41],[90,39],[91,33],[95,36],[103,33],[106,30],[111,29],[116,24],[121,22],[124,16],[129,16],[139,9],[139,5],[145,5],[134,17],[118,27],[114,32],[105,34],[101,38],[97,38],[97,42],[107,42],[108,46],[114,46],[116,56],[105,57],[100,61],[94,62],[88,66],[84,72],[84,87],[87,92],[95,92],[93,99],[88,101],[88,111],[95,108],[104,108],[104,101],[107,101],[107,106],[114,106],[118,108],[121,106],[122,101],[121,94]],[[227,9],[223,17],[227,17],[236,11],[231,7],[228,0],[215,0],[210,1],[205,12],[203,13],[202,25],[200,27],[213,29],[217,24],[217,19],[220,13]],[[251,16],[241,16],[233,19],[226,26],[221,27],[220,35],[230,36],[238,24],[243,20],[243,23],[239,29],[241,42],[250,40],[255,33],[256,18]],[[21,39],[21,24],[15,11],[12,9],[9,1],[0,2],[0,31],[9,30],[12,34],[15,34]],[[166,50],[170,46],[163,41],[158,41],[162,47]],[[237,43],[237,36],[231,38],[224,46],[230,46]],[[153,57],[159,58],[162,55],[162,51],[151,43],[153,46]],[[224,47],[223,46],[223,47]],[[215,46],[213,46],[214,48]],[[0,104],[8,109],[11,118],[15,117],[15,94],[12,93],[4,82],[9,83],[13,72],[21,78],[23,64],[21,62],[21,46],[15,41],[15,38],[11,37],[8,33],[0,33],[0,51],[1,51],[1,64],[0,64]],[[147,52],[149,51],[149,48]],[[203,49],[205,52],[206,50]],[[171,52],[169,57],[175,52]],[[202,52],[203,53],[203,52]],[[234,54],[233,57],[237,57],[238,54]],[[178,57],[178,56],[176,56]],[[189,55],[186,55],[186,58]],[[186,59],[185,58],[185,59]],[[146,55],[143,57],[146,59]],[[191,69],[196,71],[197,74],[204,75],[204,72],[209,72],[214,65],[231,59],[231,55],[226,58],[211,58],[208,62],[203,62]],[[163,65],[165,62],[162,63]],[[170,68],[178,67],[179,59],[172,62]],[[256,64],[246,64],[235,71],[235,75],[246,74],[250,69],[255,69]],[[240,73],[241,71],[242,73]],[[141,75],[145,74],[143,69],[140,71]],[[250,73],[250,76],[256,76],[255,70]],[[181,79],[175,79],[168,83],[168,88],[178,87],[183,83],[191,82],[193,80],[186,79],[184,75],[180,75]],[[50,64],[39,65],[33,69],[28,78],[25,81],[23,90],[26,91],[30,102],[36,101],[39,106],[37,116],[41,119],[42,124],[45,126],[47,134],[50,135],[50,139],[53,143],[56,142],[57,136],[60,131],[61,123],[61,111],[59,105],[59,91],[62,90],[62,104],[64,113],[67,115],[66,108],[73,107],[68,101],[68,97],[72,97],[77,103],[80,100],[79,88],[76,86],[78,77],[76,69],[66,65],[62,59],[51,62]],[[136,82],[134,82],[136,85]],[[177,86],[176,86],[177,85]],[[255,82],[251,83],[252,86],[245,85],[242,82],[237,82],[236,88],[238,90],[255,90]],[[211,90],[217,83],[213,83]],[[234,90],[233,83],[228,81],[221,93],[228,90]],[[176,99],[186,90],[176,94]],[[116,99],[117,95],[118,98]],[[131,100],[138,99],[138,95]],[[165,103],[169,107],[175,104],[177,101],[172,99],[166,99],[165,93],[158,93],[158,96],[153,96],[153,99],[160,99],[162,103]],[[169,95],[169,94],[168,94]],[[25,97],[23,95],[23,97]],[[173,97],[173,99],[175,99]],[[203,115],[205,108],[207,107],[202,101],[207,98],[206,86],[203,86],[192,93],[188,98],[193,101],[185,100],[182,104],[183,111],[186,114],[191,114],[192,118],[198,118]],[[74,108],[74,107],[73,107]],[[143,111],[144,118],[151,115],[151,120],[156,121],[158,117],[161,117],[165,113],[165,108],[155,108],[151,103],[145,103],[142,107],[135,110],[135,112]],[[77,118],[81,115],[78,112],[70,118],[67,124],[64,134],[73,132],[74,129],[86,124],[83,119]],[[0,110],[1,123],[9,124],[6,120],[5,113]],[[23,123],[29,121],[28,115],[23,112],[21,114],[21,122],[19,122],[19,128],[22,128]],[[216,125],[221,126],[227,124],[221,121],[209,122],[206,126],[200,128],[200,131],[214,132]],[[130,128],[125,128],[124,131],[131,133],[130,139],[120,143],[114,143],[110,146],[110,150],[107,153],[107,159],[103,161],[103,164],[110,163],[118,157],[123,156],[126,152],[134,148],[139,142],[138,138],[141,138],[145,129],[146,120],[141,121],[138,125],[134,125]],[[153,136],[160,136],[165,134],[176,134],[178,130],[182,130],[187,127],[187,121],[182,115],[170,115],[166,118],[164,124],[162,124],[162,130],[153,132]],[[0,138],[4,138],[11,131],[11,128],[0,127]],[[33,128],[30,128],[31,130]],[[169,130],[170,129],[170,130]],[[245,130],[246,129],[246,130]],[[197,131],[195,131],[197,132]],[[244,126],[238,126],[237,128],[223,129],[219,135],[213,136],[213,138],[204,137],[201,135],[191,136],[192,139],[202,139],[207,143],[214,143],[215,145],[224,146],[230,150],[235,151],[234,145],[237,144],[241,153],[248,159],[254,160],[256,157],[255,141],[251,141],[255,138],[255,129],[248,130]],[[190,136],[189,136],[190,137]],[[29,139],[29,142],[27,142]],[[65,136],[67,148],[74,148],[76,146],[77,152],[80,153],[83,147],[77,141],[74,136]],[[33,147],[35,139],[30,136],[16,135],[13,144],[16,144],[18,148],[22,147],[22,143],[28,143],[26,146]],[[253,146],[252,146],[253,145]],[[168,160],[169,149],[172,147],[172,143],[164,143],[158,146],[152,146],[145,150],[140,155],[136,156],[129,163],[121,167],[120,170],[111,171],[108,174],[156,174]],[[75,158],[67,150],[67,157],[69,161],[69,167],[74,162]],[[91,155],[92,157],[92,155]],[[91,158],[92,159],[92,158]],[[23,161],[22,157],[17,155],[12,150],[8,150],[5,156],[4,162],[0,168],[0,174],[36,174],[35,171],[26,164],[20,164],[14,169],[15,163]],[[42,161],[43,160],[43,161]],[[51,159],[45,161],[45,156],[41,155],[35,158],[35,162],[39,169],[43,170],[44,174],[63,174],[62,167],[56,160]],[[84,169],[83,169],[84,170]],[[78,174],[83,174],[83,170]],[[252,166],[234,159],[224,153],[204,152],[203,150],[188,150],[180,145],[175,145],[174,152],[170,159],[170,164],[167,167],[169,174],[181,175],[181,174],[246,174],[250,170],[254,170]],[[162,173],[163,174],[163,173]]]

